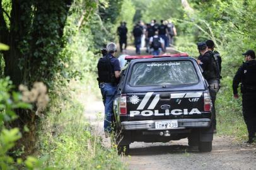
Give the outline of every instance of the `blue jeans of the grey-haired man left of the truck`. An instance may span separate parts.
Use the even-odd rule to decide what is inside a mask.
[[[113,97],[117,86],[112,86],[111,83],[101,83],[100,91],[102,92],[103,104],[105,106],[105,118],[104,118],[104,131],[111,132],[111,123],[113,116]]]

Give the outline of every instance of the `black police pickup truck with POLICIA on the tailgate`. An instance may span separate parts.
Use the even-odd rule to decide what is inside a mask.
[[[118,148],[187,138],[212,150],[212,103],[197,61],[187,54],[127,56],[113,102]],[[123,150],[124,149],[124,150]]]

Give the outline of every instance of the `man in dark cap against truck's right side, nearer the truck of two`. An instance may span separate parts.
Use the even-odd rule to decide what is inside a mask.
[[[208,49],[205,42],[197,43],[197,48],[201,56],[199,57],[199,65],[202,67],[202,75],[206,79],[209,84],[209,92],[211,95],[212,100],[212,125],[213,125],[213,132],[216,133],[216,110],[215,110],[215,100],[216,94],[219,91],[219,69],[216,60],[212,55],[212,51]]]

